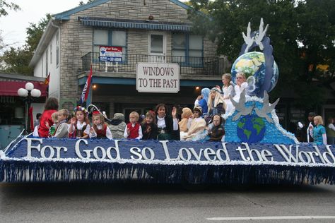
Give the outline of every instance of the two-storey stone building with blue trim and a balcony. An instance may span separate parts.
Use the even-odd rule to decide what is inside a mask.
[[[78,104],[90,65],[91,102],[110,116],[143,114],[158,103],[192,105],[201,88],[221,84],[226,61],[215,43],[192,33],[188,9],[175,0],[98,0],[58,13],[30,66],[35,76],[50,73],[49,96],[68,109]],[[122,61],[101,61],[101,47],[116,47]],[[138,92],[139,63],[178,64],[179,92]]]

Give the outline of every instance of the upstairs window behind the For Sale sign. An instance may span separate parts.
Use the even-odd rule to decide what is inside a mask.
[[[94,30],[93,32],[93,59],[99,60],[100,46],[122,47],[122,61],[126,59],[127,32],[124,30]]]

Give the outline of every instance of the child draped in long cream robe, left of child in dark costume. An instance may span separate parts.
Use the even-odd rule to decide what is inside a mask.
[[[201,117],[201,107],[195,107],[193,109],[193,115],[189,117],[187,126],[189,130],[182,140],[199,141],[206,138],[206,121]]]

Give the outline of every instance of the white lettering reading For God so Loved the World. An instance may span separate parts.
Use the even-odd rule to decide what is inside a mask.
[[[68,152],[68,148],[59,145],[44,145],[42,138],[25,138],[27,141],[27,155],[25,158],[42,158],[42,159],[62,159],[61,157],[65,152]],[[230,155],[228,153],[227,144],[221,143],[222,147],[180,147],[174,148],[167,145],[169,141],[162,140],[159,141],[161,147],[151,148],[148,146],[144,147],[122,147],[122,151],[126,152],[124,154],[129,154],[127,157],[121,157],[119,149],[120,140],[111,140],[114,142],[114,146],[109,146],[107,149],[102,146],[92,146],[89,145],[89,140],[79,139],[76,140],[74,145],[74,154],[78,159],[96,159],[105,160],[109,159],[112,161],[117,161],[119,159],[131,159],[131,160],[161,160],[165,162],[173,161],[196,161],[196,162],[230,162]],[[126,143],[127,145],[127,143]],[[149,143],[150,145],[150,143]],[[204,145],[203,143],[199,146]],[[295,146],[295,147],[293,147]],[[304,147],[302,147],[304,148]],[[282,159],[286,163],[290,164],[330,164],[335,165],[335,156],[331,152],[331,145],[326,145],[324,152],[320,152],[317,145],[313,145],[314,151],[305,151],[300,148],[300,145],[278,145],[274,144],[273,150],[265,150],[260,148],[250,148],[248,143],[241,143],[235,150],[230,150],[230,152],[235,152],[233,161],[244,162],[281,162]],[[158,150],[157,150],[158,149]],[[278,151],[278,152],[276,152]],[[158,152],[157,154],[155,152]],[[274,157],[273,152],[276,152]],[[32,155],[34,154],[34,156]],[[37,155],[36,155],[37,154]],[[161,155],[157,156],[157,155]],[[237,157],[236,157],[237,155]],[[165,157],[164,157],[165,156]],[[278,157],[280,156],[280,157]],[[71,158],[76,158],[71,157]],[[282,158],[281,158],[282,157]],[[279,158],[279,160],[278,160]],[[276,160],[277,159],[277,160]]]

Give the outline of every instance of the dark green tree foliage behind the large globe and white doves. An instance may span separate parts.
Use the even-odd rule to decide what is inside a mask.
[[[273,97],[294,89],[300,97],[295,105],[310,108],[324,102],[324,85],[334,81],[335,0],[191,0],[194,32],[218,44],[218,54],[237,59],[242,32],[269,24],[267,35],[274,47],[280,78]],[[200,13],[199,13],[200,12]],[[327,72],[317,65],[327,64]],[[318,80],[318,81],[315,81]]]

